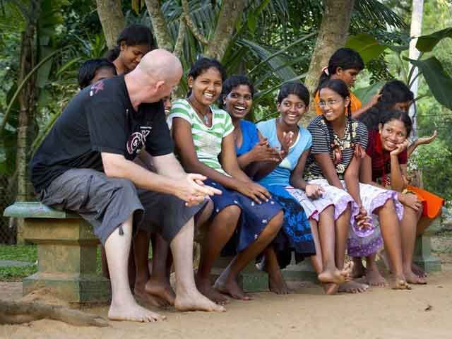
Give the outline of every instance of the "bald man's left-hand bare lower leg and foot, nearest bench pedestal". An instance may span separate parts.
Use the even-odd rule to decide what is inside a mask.
[[[129,286],[128,260],[132,238],[132,215],[121,225],[124,234],[119,235],[119,227],[105,242],[105,253],[112,284],[112,304],[108,311],[111,320],[151,322],[165,319],[138,305],[133,299]]]

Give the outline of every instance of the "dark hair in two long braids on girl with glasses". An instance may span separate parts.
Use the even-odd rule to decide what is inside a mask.
[[[321,83],[319,87],[319,91],[323,88],[328,88],[330,90],[333,90],[335,93],[338,93],[343,99],[345,100],[347,97],[350,98],[350,90],[348,89],[347,85],[340,79],[328,79]],[[320,92],[319,92],[320,93]],[[355,151],[355,156],[362,157],[362,150],[361,145],[358,143],[355,143],[355,137],[353,136],[353,129],[352,129],[352,108],[350,107],[350,100],[346,107],[346,114],[347,114],[347,123],[348,123],[348,130],[350,133],[350,143],[352,145],[352,148]],[[331,126],[329,126],[328,120],[325,119],[325,117],[322,118],[323,121],[325,121],[326,126],[328,126],[328,133],[330,137],[330,145],[333,150],[333,160],[336,163],[339,163],[342,160],[342,152],[340,150],[339,145],[336,145],[334,143],[334,133]]]

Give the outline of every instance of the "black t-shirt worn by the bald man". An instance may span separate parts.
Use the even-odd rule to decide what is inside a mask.
[[[35,190],[73,168],[103,172],[101,152],[133,160],[141,148],[153,156],[173,152],[162,102],[133,109],[124,76],[81,90],[64,109],[30,162]]]

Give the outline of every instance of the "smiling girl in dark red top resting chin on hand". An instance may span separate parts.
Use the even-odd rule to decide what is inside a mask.
[[[405,206],[401,222],[405,278],[409,283],[424,284],[424,272],[412,265],[415,237],[422,234],[434,218],[441,214],[444,199],[406,184],[407,138],[412,129],[408,113],[388,110],[380,118],[377,128],[369,132],[362,181],[376,182],[399,192],[399,200]]]

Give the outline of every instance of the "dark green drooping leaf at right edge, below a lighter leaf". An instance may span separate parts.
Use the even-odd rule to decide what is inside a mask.
[[[435,99],[441,105],[452,109],[452,78],[444,71],[441,62],[436,57],[425,60],[408,60],[419,68]]]

